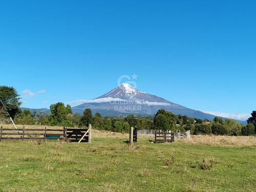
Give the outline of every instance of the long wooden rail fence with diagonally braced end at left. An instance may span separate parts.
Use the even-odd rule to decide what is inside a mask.
[[[74,142],[89,142],[91,143],[91,125],[89,129],[6,129],[1,126],[0,141],[2,140],[25,140],[25,139],[70,139]],[[79,140],[78,140],[79,139]]]

